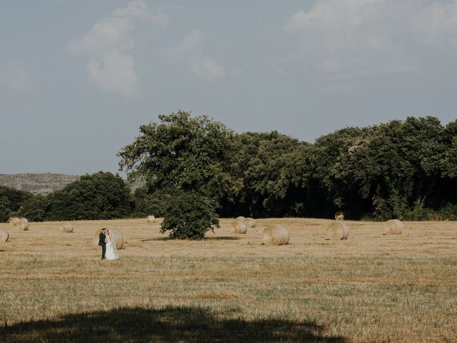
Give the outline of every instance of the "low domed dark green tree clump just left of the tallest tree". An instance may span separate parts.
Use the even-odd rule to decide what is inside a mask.
[[[86,174],[49,195],[48,220],[113,219],[130,214],[130,189],[109,172]]]

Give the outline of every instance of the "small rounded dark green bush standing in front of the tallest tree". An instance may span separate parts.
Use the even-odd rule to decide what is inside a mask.
[[[219,217],[208,197],[189,191],[169,198],[161,232],[170,231],[171,239],[204,239],[214,227],[219,227]]]

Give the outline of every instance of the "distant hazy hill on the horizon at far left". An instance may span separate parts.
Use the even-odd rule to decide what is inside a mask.
[[[67,174],[0,174],[1,186],[34,194],[49,194],[77,180],[78,175]]]

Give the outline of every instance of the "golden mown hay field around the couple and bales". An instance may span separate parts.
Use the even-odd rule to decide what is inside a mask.
[[[171,241],[146,219],[10,224],[0,243],[0,342],[457,342],[457,223],[231,219],[202,242]],[[290,244],[262,245],[270,223]],[[119,228],[119,261],[96,229]]]

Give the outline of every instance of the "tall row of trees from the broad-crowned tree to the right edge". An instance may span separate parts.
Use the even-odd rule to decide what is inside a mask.
[[[309,144],[276,131],[236,134],[183,111],[160,119],[119,153],[121,168],[149,193],[199,189],[224,217],[457,214],[457,121],[409,117]]]

